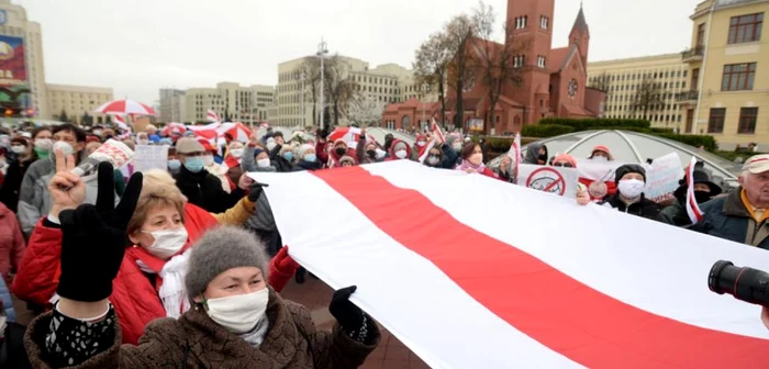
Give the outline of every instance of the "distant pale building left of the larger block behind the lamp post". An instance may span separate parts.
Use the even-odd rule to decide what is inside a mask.
[[[215,88],[191,88],[185,92],[185,122],[205,122],[209,109],[221,120],[258,123],[269,120],[269,108],[275,101],[271,86],[241,86],[220,82]]]

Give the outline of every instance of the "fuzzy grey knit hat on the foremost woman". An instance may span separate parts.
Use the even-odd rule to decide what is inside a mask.
[[[268,257],[257,236],[234,226],[220,226],[207,232],[192,245],[185,277],[190,301],[205,291],[216,276],[227,269],[256,267],[267,280]]]

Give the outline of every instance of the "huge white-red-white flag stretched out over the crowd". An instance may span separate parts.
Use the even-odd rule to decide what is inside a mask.
[[[769,362],[760,309],[707,288],[766,250],[408,160],[252,176],[291,256],[433,368]]]

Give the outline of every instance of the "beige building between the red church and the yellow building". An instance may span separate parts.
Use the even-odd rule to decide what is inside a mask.
[[[643,119],[651,126],[680,130],[676,96],[688,91],[689,70],[680,54],[588,64],[588,82],[606,91],[605,118]]]

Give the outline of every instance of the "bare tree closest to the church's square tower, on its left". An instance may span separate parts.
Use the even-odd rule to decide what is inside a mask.
[[[472,14],[473,33],[477,36],[472,43],[472,66],[489,98],[483,132],[493,119],[503,87],[508,83],[517,87],[523,82],[522,68],[514,66],[513,58],[523,52],[525,42],[513,36],[513,27],[508,26],[506,22],[502,24],[504,44],[493,42],[491,37],[494,33],[495,18],[493,8],[482,1]]]

